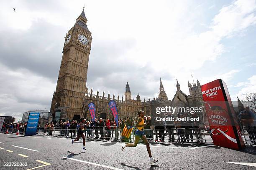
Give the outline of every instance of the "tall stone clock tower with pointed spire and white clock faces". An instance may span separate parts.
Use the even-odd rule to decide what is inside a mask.
[[[57,87],[51,101],[55,121],[82,116],[91,43],[92,34],[83,9],[65,38]]]

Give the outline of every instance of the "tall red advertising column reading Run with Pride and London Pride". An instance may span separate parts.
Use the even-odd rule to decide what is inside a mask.
[[[202,85],[201,89],[214,145],[235,150],[244,148],[226,83],[218,79]]]

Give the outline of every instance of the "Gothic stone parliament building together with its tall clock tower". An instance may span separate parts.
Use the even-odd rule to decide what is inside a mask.
[[[132,100],[128,82],[126,83],[124,98],[123,95],[122,98],[119,95],[110,97],[110,94],[105,95],[105,92],[99,95],[99,91],[93,94],[92,88],[88,91],[86,83],[91,44],[92,33],[87,27],[87,18],[83,9],[65,38],[58,81],[51,102],[50,112],[54,121],[79,120],[80,117],[84,116],[90,118],[90,114],[87,113],[87,105],[90,102],[95,104],[97,118],[110,119],[112,118],[108,108],[110,100],[115,100],[121,119],[126,116],[136,117],[138,110],[143,110],[145,115],[152,116],[156,113],[156,107],[199,107],[204,105],[198,80],[197,84],[193,82],[191,85],[188,82],[189,95],[182,92],[177,80],[177,91],[172,100],[168,99],[161,78],[159,95],[152,100],[148,98],[148,100],[142,101],[139,93],[136,100]]]

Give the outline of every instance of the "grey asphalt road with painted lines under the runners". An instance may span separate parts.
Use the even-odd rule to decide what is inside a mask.
[[[0,169],[69,170],[255,170],[256,147],[246,145],[242,151],[212,144],[152,143],[153,158],[149,164],[146,145],[126,147],[113,140],[82,140],[71,144],[71,138],[24,136],[0,133]],[[19,163],[24,163],[26,166]],[[11,165],[11,166],[4,166]],[[16,166],[15,166],[16,165]]]

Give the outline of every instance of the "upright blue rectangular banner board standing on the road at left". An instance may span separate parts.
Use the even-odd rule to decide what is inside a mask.
[[[25,136],[36,135],[39,117],[40,117],[40,113],[34,113],[34,112],[29,113]]]

